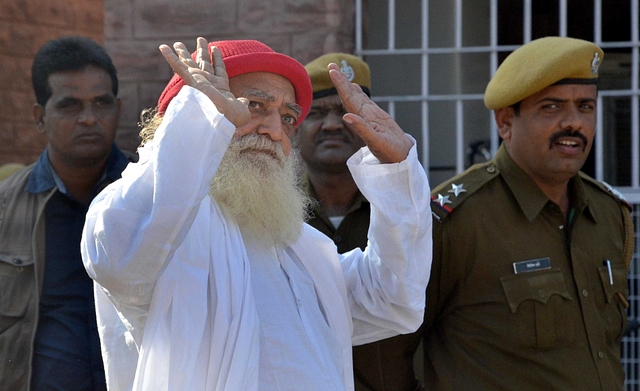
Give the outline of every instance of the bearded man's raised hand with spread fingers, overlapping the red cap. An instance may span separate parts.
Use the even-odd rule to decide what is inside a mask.
[[[247,107],[249,101],[246,98],[236,98],[231,93],[222,53],[215,46],[211,48],[212,64],[209,61],[207,47],[207,40],[198,38],[195,60],[182,42],[173,44],[175,53],[167,45],[160,45],[160,52],[186,85],[207,95],[218,111],[236,127],[242,126],[251,119],[251,113]]]

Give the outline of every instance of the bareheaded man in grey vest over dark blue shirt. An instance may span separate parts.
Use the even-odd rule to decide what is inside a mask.
[[[0,184],[0,389],[105,390],[80,237],[89,203],[129,162],[114,144],[116,70],[96,42],[65,37],[38,51],[32,82],[47,147]]]

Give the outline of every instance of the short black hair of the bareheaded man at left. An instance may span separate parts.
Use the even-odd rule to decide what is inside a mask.
[[[102,46],[86,37],[62,37],[45,43],[33,60],[31,83],[36,102],[44,106],[51,98],[49,76],[58,72],[81,71],[89,65],[103,69],[111,77],[113,95],[118,95],[116,67]]]

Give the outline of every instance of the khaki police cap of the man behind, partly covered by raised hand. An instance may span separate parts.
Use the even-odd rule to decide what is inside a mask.
[[[338,92],[331,82],[327,65],[336,63],[342,73],[350,82],[356,83],[362,88],[365,94],[371,96],[371,75],[369,66],[358,57],[347,53],[328,53],[322,55],[305,65],[305,69],[311,79],[313,87],[313,99],[322,98],[328,95],[335,95]]]

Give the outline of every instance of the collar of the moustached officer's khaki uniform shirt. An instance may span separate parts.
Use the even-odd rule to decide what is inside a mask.
[[[533,221],[547,202],[550,201],[549,197],[547,197],[531,177],[513,161],[505,149],[504,144],[498,149],[494,160],[502,178],[504,178],[516,202],[518,202],[520,209],[529,221]],[[595,222],[596,216],[594,211],[589,208],[588,196],[585,193],[584,183],[580,175],[574,175],[569,181],[569,194],[571,197],[571,207],[580,214],[584,212],[586,216]]]

